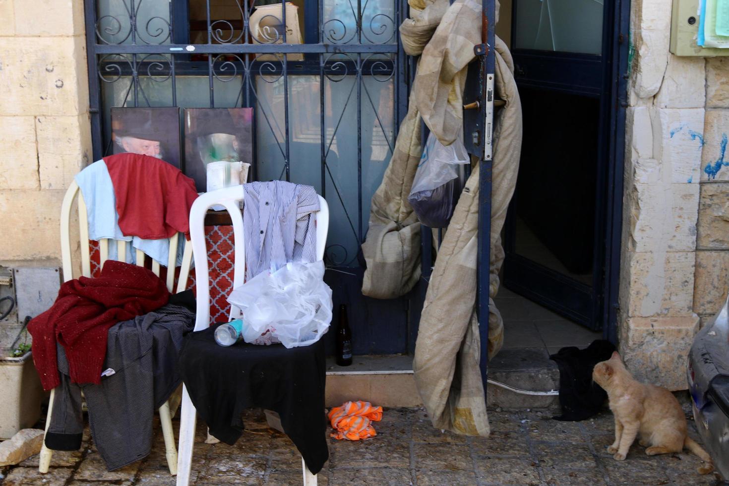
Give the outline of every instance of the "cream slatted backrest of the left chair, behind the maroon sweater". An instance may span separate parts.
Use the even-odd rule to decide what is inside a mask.
[[[78,203],[79,212],[79,240],[81,243],[81,275],[85,277],[91,276],[91,252],[89,248],[89,227],[88,213],[84,197],[79,189],[76,181],[71,182],[71,186],[66,191],[61,204],[61,259],[63,262],[63,281],[69,281],[74,278],[73,262],[71,259],[71,211],[74,200]],[[173,291],[175,282],[175,266],[177,263],[177,244],[179,233],[169,238],[170,254],[167,262],[167,289]],[[99,264],[102,266],[109,259],[109,245],[117,246],[117,259],[123,261],[127,254],[127,245],[131,245],[130,241],[112,240],[111,238],[101,238],[99,240]],[[140,266],[144,266],[144,252],[136,250],[136,262]],[[182,256],[182,266],[180,268],[177,290],[181,292],[187,286],[187,278],[190,275],[190,262],[192,262],[192,244],[185,241],[184,253]],[[160,275],[160,264],[152,260],[152,271],[155,275]]]

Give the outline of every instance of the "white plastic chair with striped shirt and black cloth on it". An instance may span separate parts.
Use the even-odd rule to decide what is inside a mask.
[[[204,224],[205,215],[212,205],[223,205],[230,219],[233,221],[233,237],[235,262],[233,266],[233,289],[243,285],[245,280],[244,264],[238,262],[246,261],[246,246],[243,240],[243,214],[240,203],[243,201],[243,186],[227,187],[217,191],[207,192],[201,195],[192,204],[190,210],[190,242],[192,243],[192,255],[195,258],[195,282],[197,283],[197,308],[198,315],[195,319],[195,331],[202,331],[210,326],[210,289],[208,282],[208,251],[205,242]],[[316,213],[316,259],[324,258],[324,248],[327,243],[327,232],[329,231],[329,205],[324,197],[319,196],[319,212]],[[241,318],[242,313],[238,307],[231,306],[230,320]],[[182,387],[182,412],[180,412],[179,432],[179,459],[177,463],[177,486],[190,484],[190,469],[192,466],[192,447],[195,444],[195,424],[197,411],[190,400],[187,388]],[[316,475],[306,467],[304,459],[301,458],[303,468],[303,481],[305,486],[316,486]]]

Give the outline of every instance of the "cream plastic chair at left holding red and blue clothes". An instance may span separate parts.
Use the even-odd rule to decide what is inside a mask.
[[[78,197],[77,197],[78,196]],[[81,275],[85,277],[91,276],[91,256],[89,250],[89,228],[87,219],[87,209],[84,203],[83,195],[79,190],[78,184],[72,182],[69,189],[66,191],[66,195],[63,197],[63,203],[61,205],[61,258],[63,260],[63,280],[69,281],[73,278],[73,264],[71,262],[71,208],[74,203],[74,199],[78,201],[79,211],[79,240],[81,242]],[[179,233],[170,238],[170,256],[168,259],[168,272],[167,272],[167,289],[172,291],[175,281],[175,264],[177,259],[177,244],[178,244]],[[123,260],[127,254],[127,245],[130,245],[130,241],[102,239],[99,243],[99,254],[100,263],[104,265],[107,259],[109,259],[109,245],[117,245],[117,259]],[[136,251],[137,264],[144,265],[144,253],[141,250]],[[182,267],[180,268],[179,281],[177,283],[177,291],[181,292],[187,286],[187,277],[190,275],[190,262],[192,261],[192,245],[189,241],[185,242],[184,253],[182,256]],[[155,275],[160,275],[160,264],[152,261],[152,271]],[[46,418],[45,432],[48,432],[48,426],[50,426],[51,413],[53,411],[53,399],[55,397],[55,389],[50,392],[50,402],[48,404],[48,415]],[[177,474],[177,451],[175,449],[175,437],[172,429],[172,416],[170,412],[170,402],[166,401],[162,407],[160,407],[160,423],[162,424],[162,431],[165,437],[165,456],[167,458],[167,466],[170,469],[170,474],[173,476]],[[43,436],[43,446],[41,448],[38,471],[47,473],[50,467],[50,460],[52,458],[53,451],[45,446],[45,434]]]

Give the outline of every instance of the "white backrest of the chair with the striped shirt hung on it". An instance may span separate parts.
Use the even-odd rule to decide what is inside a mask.
[[[225,206],[233,222],[233,251],[235,264],[233,265],[233,289],[243,285],[246,275],[246,245],[243,237],[243,213],[240,203],[245,191],[243,185],[217,189],[200,195],[190,210],[190,242],[192,255],[195,259],[195,285],[197,291],[198,315],[195,320],[195,331],[201,331],[210,326],[210,286],[208,275],[208,249],[205,241],[205,215],[212,205]],[[324,258],[324,248],[327,246],[327,232],[329,232],[329,205],[324,197],[319,197],[319,211],[314,213],[316,224],[316,259]],[[240,263],[239,263],[240,262]],[[235,305],[230,307],[230,319],[241,317],[241,310]]]

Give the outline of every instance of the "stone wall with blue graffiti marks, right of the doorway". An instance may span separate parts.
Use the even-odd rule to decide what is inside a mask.
[[[671,55],[670,31],[671,0],[633,1],[619,337],[636,377],[679,390],[729,283],[729,63]]]

